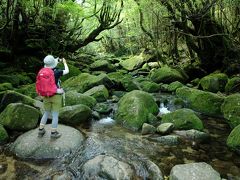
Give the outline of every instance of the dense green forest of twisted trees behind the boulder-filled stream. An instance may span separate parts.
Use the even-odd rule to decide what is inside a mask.
[[[81,61],[143,49],[193,77],[240,69],[238,0],[4,0],[0,12],[1,68],[13,68],[6,72],[35,72],[48,53]]]

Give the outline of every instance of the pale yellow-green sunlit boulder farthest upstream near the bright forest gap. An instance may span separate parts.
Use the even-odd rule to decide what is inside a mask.
[[[145,62],[147,62],[150,58],[151,58],[150,55],[141,53],[138,56],[132,56],[129,57],[128,59],[122,60],[120,62],[120,65],[128,71],[133,71],[142,67],[142,65]]]

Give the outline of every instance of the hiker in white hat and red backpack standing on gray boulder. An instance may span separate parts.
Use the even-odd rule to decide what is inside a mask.
[[[60,87],[60,77],[69,73],[66,60],[54,58],[47,55],[44,60],[44,68],[42,68],[36,81],[36,91],[43,97],[44,114],[41,118],[38,136],[42,137],[46,130],[44,126],[48,116],[52,114],[51,138],[59,138],[61,133],[57,131],[59,110],[63,103],[64,90]],[[63,62],[64,70],[56,68],[59,62]]]

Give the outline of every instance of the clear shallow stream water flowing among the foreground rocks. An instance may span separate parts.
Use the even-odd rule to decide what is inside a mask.
[[[162,97],[158,97],[162,98]],[[160,110],[174,110],[171,96],[164,96]],[[163,102],[163,101],[162,101]],[[164,176],[169,176],[176,164],[206,162],[217,170],[223,178],[239,179],[240,156],[226,146],[230,133],[223,119],[201,116],[205,131],[210,134],[207,142],[182,141],[177,146],[161,145],[150,139],[156,135],[141,135],[115,123],[112,113],[100,120],[92,120],[78,128],[86,137],[77,152],[57,160],[23,161],[8,152],[8,145],[1,148],[0,179],[54,179],[71,173],[71,179],[82,179],[82,166],[97,155],[109,155],[127,162],[136,170],[136,179],[146,179],[149,166],[155,163]]]

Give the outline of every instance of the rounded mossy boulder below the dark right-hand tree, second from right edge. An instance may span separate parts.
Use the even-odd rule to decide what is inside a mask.
[[[228,76],[224,73],[213,73],[203,77],[200,80],[200,85],[204,91],[224,92],[228,82]]]

